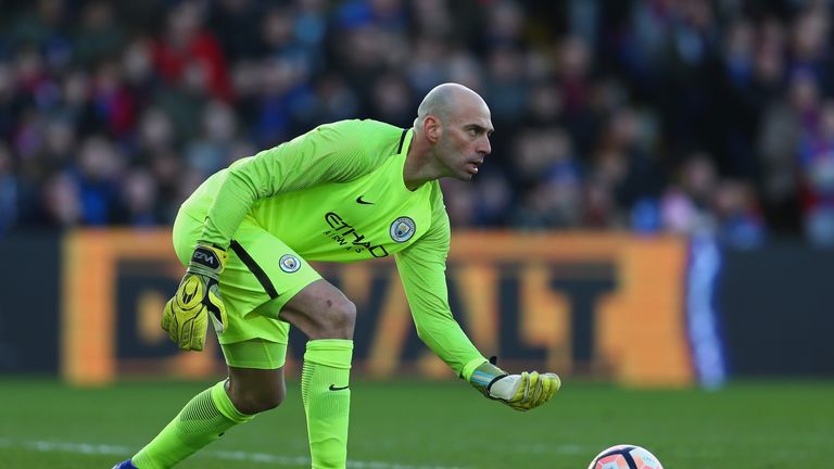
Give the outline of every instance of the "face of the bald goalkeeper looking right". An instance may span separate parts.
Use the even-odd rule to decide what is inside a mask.
[[[478,167],[490,154],[493,127],[490,110],[483,102],[473,102],[452,113],[443,123],[438,141],[438,160],[446,167],[446,176],[471,180]]]

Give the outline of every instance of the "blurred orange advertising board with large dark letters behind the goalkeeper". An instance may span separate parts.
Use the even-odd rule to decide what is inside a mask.
[[[129,274],[125,266],[130,262],[150,265],[143,276],[164,284],[175,284],[182,275],[168,230],[81,230],[66,237],[63,377],[90,385],[123,373],[207,378],[222,371],[215,341],[208,340],[203,353],[179,353],[155,331],[154,309],[173,290],[139,286],[129,310],[117,310],[117,279]],[[403,358],[413,346],[414,326],[393,263],[317,267],[361,307],[376,305],[377,310],[358,316],[359,321],[376,318],[362,325],[371,333],[366,352],[355,354],[358,372],[376,378],[403,370],[452,376],[426,347],[412,352],[416,358]],[[507,367],[681,386],[694,380],[683,312],[685,268],[685,240],[674,237],[456,232],[447,271],[457,305],[453,313],[476,345],[484,354],[498,354]],[[371,289],[380,276],[383,287]],[[169,353],[118,356],[117,327],[127,328],[139,344],[134,346]],[[296,365],[288,359],[288,367]]]

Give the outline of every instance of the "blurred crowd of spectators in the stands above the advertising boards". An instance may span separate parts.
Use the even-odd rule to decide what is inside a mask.
[[[834,245],[831,1],[0,1],[0,236],[163,226],[318,124],[492,110],[453,226]]]

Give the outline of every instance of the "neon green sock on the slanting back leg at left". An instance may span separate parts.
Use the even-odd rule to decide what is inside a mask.
[[[140,469],[166,469],[254,416],[241,414],[226,394],[226,381],[195,395],[132,462]]]

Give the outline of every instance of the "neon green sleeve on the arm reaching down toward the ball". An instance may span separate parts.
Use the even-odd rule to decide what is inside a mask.
[[[439,187],[437,188],[440,193]],[[468,379],[486,359],[452,316],[446,288],[450,244],[448,215],[438,202],[430,231],[395,254],[417,335],[459,377]]]

